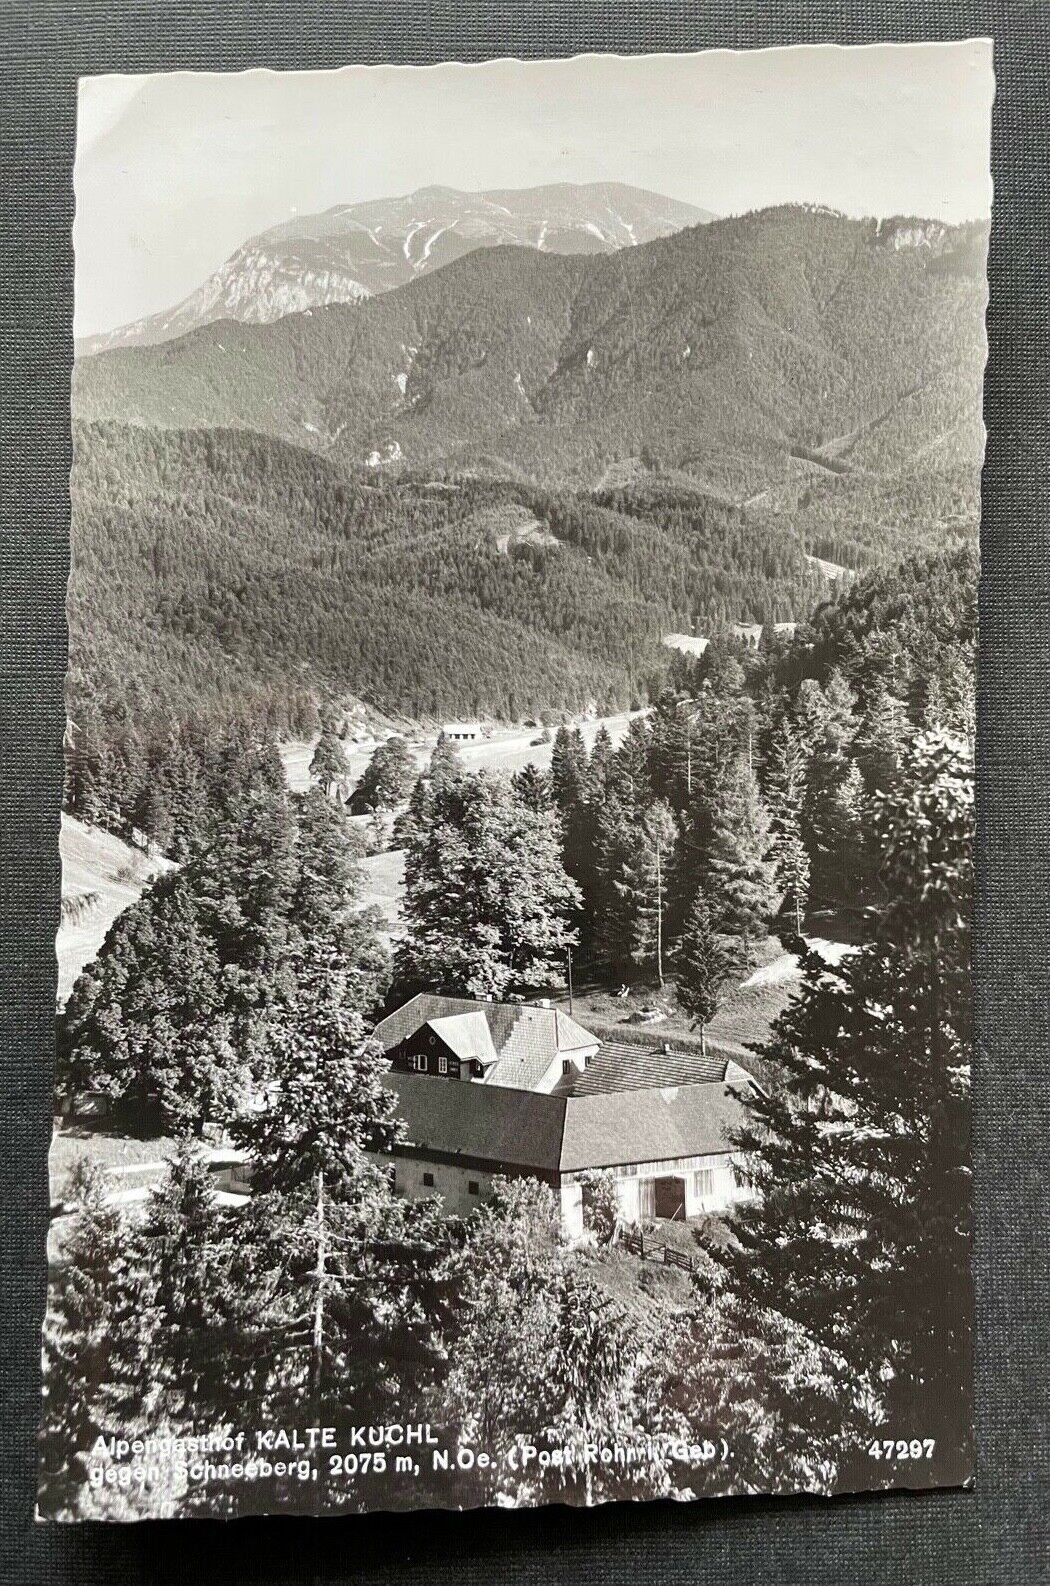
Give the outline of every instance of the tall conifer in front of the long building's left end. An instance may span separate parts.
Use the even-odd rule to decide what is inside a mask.
[[[438,1369],[444,1232],[436,1207],[409,1210],[384,1170],[404,1124],[354,975],[317,950],[295,985],[268,1023],[265,1105],[233,1131],[252,1161],[236,1269],[251,1308],[236,1342],[263,1416],[287,1423],[308,1404],[341,1427],[392,1415]],[[322,1481],[322,1504],[360,1502],[360,1483]],[[287,1504],[279,1491],[274,1502]]]

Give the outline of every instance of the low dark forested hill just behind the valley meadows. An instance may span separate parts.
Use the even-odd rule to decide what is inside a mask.
[[[78,425],[70,711],[159,720],[317,698],[412,720],[623,709],[663,634],[809,612],[782,523],[703,498],[630,508],[495,479],[351,477],[243,430]]]

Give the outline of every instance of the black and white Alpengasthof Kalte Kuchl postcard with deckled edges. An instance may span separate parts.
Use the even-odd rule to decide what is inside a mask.
[[[971,1484],[993,94],[81,78],[41,1519]]]

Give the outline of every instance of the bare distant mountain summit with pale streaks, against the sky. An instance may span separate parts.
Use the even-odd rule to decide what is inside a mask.
[[[714,219],[707,209],[622,182],[468,193],[422,187],[400,198],[338,205],[251,238],[195,292],[102,336],[81,355],[148,346],[217,319],[268,324],[404,285],[477,247],[511,243],[550,254],[601,254]]]

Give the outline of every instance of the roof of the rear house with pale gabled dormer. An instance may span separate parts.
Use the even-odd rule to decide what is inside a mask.
[[[458,1020],[469,1020],[469,1025],[462,1026],[463,1040],[458,1039]],[[598,1044],[596,1036],[557,1007],[535,1007],[531,1002],[481,1002],[473,998],[438,996],[431,991],[422,991],[379,1020],[376,1034],[384,1052],[390,1052],[414,1036],[422,1025],[430,1023],[436,1025],[447,1045],[458,1052],[460,1047],[465,1050],[471,1044],[468,1034],[473,1031],[476,1036],[477,1020],[484,1020],[489,1026],[493,1053],[498,1055],[498,1061],[485,1075],[489,1085],[531,1090],[560,1053]]]

